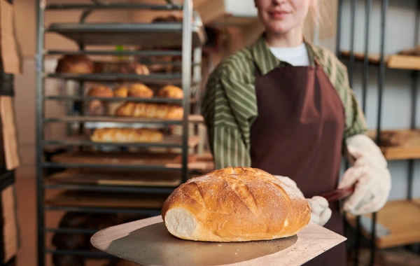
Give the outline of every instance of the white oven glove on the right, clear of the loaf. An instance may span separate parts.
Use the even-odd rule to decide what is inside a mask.
[[[344,211],[353,215],[379,211],[391,191],[391,174],[379,147],[369,137],[358,134],[346,139],[353,167],[344,173],[338,188],[356,184],[353,195],[344,203]]]

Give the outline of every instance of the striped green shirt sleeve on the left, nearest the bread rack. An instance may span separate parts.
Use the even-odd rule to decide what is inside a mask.
[[[216,169],[251,166],[249,131],[257,113],[252,78],[255,69],[244,52],[218,66],[204,95],[202,113]]]

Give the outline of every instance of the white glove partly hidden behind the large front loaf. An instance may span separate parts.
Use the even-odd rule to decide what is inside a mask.
[[[282,183],[284,183],[289,188],[293,188],[302,198],[304,195],[299,188],[297,188],[296,182],[292,179],[289,179],[286,176],[275,176],[279,179]],[[332,211],[328,208],[328,201],[325,200],[324,197],[315,196],[311,199],[306,199],[309,203],[309,207],[311,207],[311,222],[316,223],[318,225],[325,225],[331,218]]]

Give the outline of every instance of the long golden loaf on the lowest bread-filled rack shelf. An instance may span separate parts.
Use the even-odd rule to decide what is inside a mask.
[[[158,130],[149,130],[145,128],[102,128],[94,130],[90,139],[94,142],[162,142],[163,134]]]

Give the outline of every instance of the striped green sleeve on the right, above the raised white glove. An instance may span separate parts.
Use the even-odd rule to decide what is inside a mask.
[[[317,55],[344,106],[346,127],[344,128],[343,140],[355,134],[365,133],[367,131],[365,115],[349,85],[346,66],[332,52],[324,48],[318,48]]]

